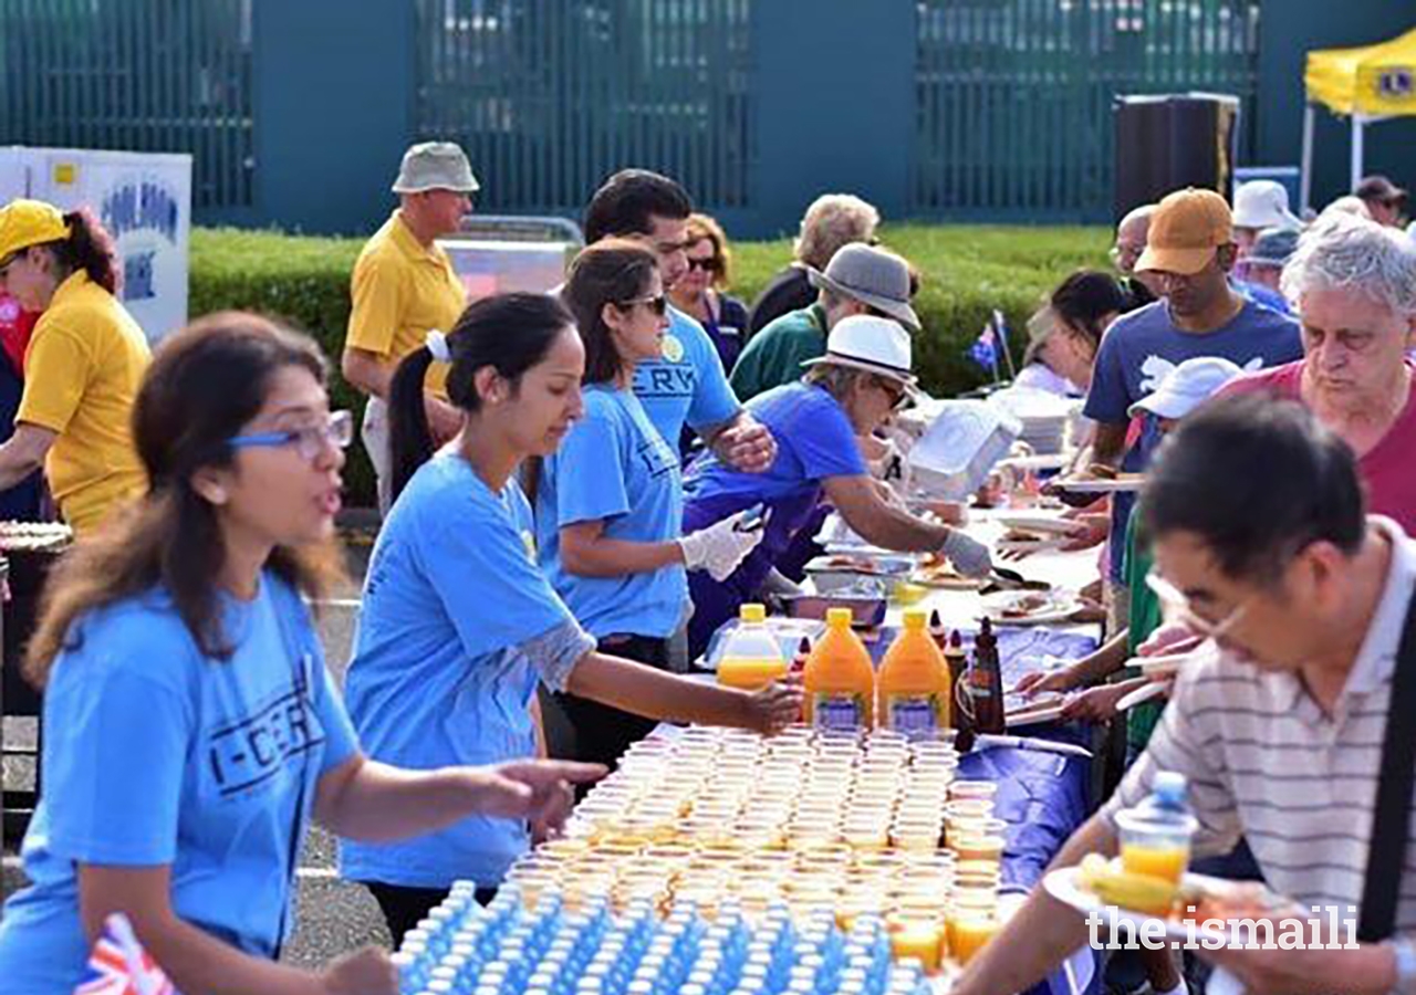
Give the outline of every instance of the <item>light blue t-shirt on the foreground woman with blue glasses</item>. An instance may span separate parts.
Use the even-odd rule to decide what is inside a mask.
[[[71,630],[44,694],[33,883],[0,917],[4,995],[68,995],[82,977],[79,863],[167,866],[178,917],[278,951],[319,778],[358,744],[295,592],[266,572],[221,607],[229,660],[204,657],[160,590]]]

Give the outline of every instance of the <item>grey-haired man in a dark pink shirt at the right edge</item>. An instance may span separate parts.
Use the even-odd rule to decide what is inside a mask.
[[[1270,391],[1311,408],[1357,453],[1371,510],[1416,534],[1416,246],[1374,221],[1331,217],[1298,241],[1281,286],[1304,358],[1225,392]]]

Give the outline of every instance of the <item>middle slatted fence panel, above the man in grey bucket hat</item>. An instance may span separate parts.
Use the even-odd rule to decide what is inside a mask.
[[[493,209],[583,204],[653,164],[748,202],[750,0],[416,0],[419,134],[462,143]]]

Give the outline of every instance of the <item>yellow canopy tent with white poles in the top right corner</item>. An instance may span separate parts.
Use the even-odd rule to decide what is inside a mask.
[[[1362,139],[1368,125],[1416,115],[1416,28],[1362,48],[1308,52],[1303,74],[1308,105],[1303,119],[1303,207],[1308,207],[1313,127],[1321,103],[1352,119],[1352,185],[1362,178]]]

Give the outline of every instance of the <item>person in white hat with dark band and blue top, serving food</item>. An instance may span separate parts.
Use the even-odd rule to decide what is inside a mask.
[[[916,518],[884,497],[861,454],[858,437],[874,432],[913,391],[909,333],[892,318],[850,316],[831,330],[826,354],[804,367],[803,379],[748,402],[748,410],[777,439],[776,459],[765,473],[742,473],[709,457],[684,480],[685,532],[756,505],[767,510],[762,542],[729,577],[690,575],[694,655],[743,602],[758,596],[821,501],[830,501],[854,532],[882,549],[943,552],[969,576],[987,575],[993,566],[983,543]]]

